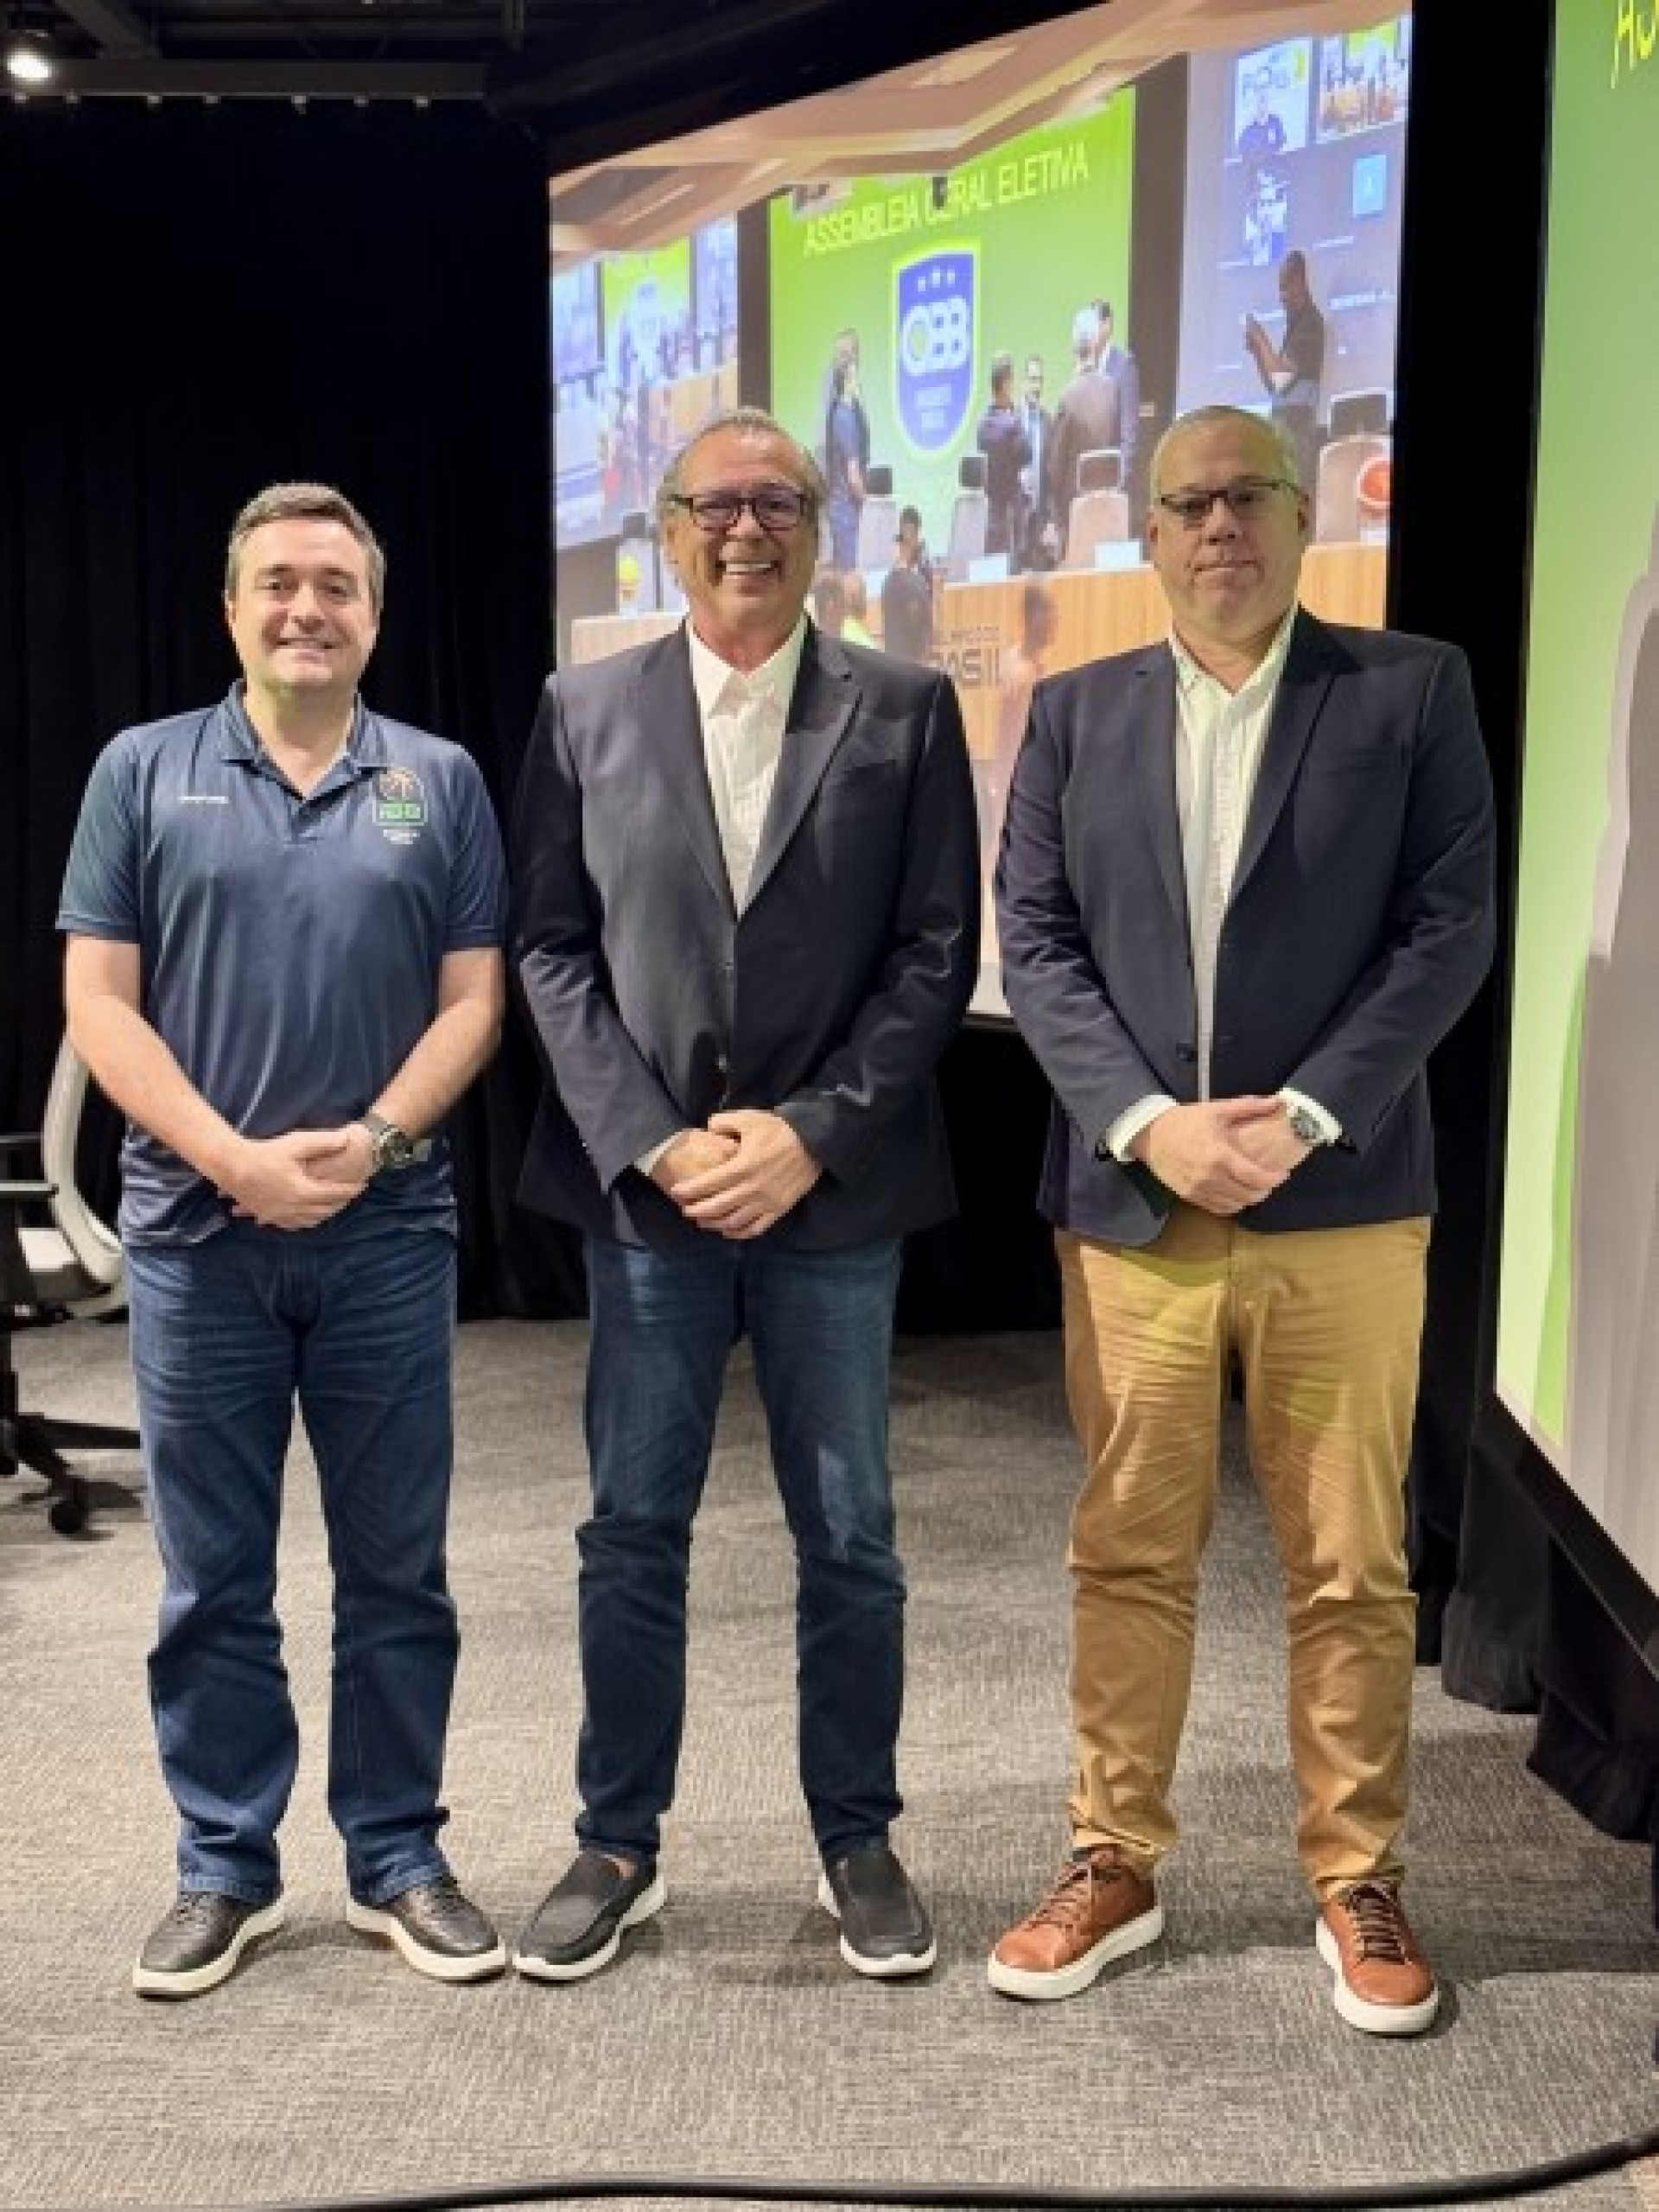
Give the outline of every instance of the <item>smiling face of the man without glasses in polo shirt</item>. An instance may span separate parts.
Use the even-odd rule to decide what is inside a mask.
[[[380,628],[363,546],[343,522],[261,522],[241,542],[226,622],[254,701],[345,710]]]

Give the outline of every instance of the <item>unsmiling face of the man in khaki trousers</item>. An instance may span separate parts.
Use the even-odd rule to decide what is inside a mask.
[[[1159,498],[1279,482],[1285,473],[1270,425],[1243,411],[1177,425],[1155,456],[1148,553],[1177,635],[1217,675],[1254,666],[1290,611],[1307,546],[1307,493],[1276,489],[1250,520],[1212,500],[1199,524],[1168,513]]]

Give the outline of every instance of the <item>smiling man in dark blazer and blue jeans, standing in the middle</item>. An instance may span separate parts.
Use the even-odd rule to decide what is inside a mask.
[[[577,1980],[664,1902],[686,1577],[748,1332],[794,1537],[818,1900],[867,1975],[933,1962],[889,1845],[905,1577],[887,1367],[900,1241],[953,1210],[933,1068],[980,958],[951,681],[803,615],[823,471],[759,409],[664,478],[675,635],[546,684],[513,971],[546,1091],[520,1197],[586,1230],[577,1854],[515,1964]]]

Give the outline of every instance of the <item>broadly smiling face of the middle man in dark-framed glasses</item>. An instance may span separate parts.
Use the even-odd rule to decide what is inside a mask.
[[[790,531],[765,531],[745,507],[728,531],[701,529],[672,507],[664,544],[686,591],[703,644],[732,668],[759,668],[801,619],[818,555],[818,509],[794,440],[776,431],[717,429],[688,453],[681,491],[734,491],[741,498],[785,487],[805,500]]]

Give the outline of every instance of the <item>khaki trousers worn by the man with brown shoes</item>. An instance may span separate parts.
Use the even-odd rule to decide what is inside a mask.
[[[1177,1203],[1144,1248],[1062,1230],[1073,1843],[1150,1874],[1192,1688],[1199,1559],[1232,1358],[1285,1586],[1301,1865],[1316,1893],[1400,1874],[1416,1597],[1405,1473],[1427,1219],[1263,1237]]]

